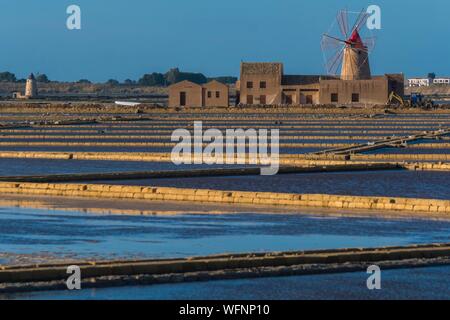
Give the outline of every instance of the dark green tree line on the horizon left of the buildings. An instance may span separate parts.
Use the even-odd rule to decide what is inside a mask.
[[[36,80],[41,83],[59,83],[58,81],[51,81],[45,74],[37,74]],[[108,86],[148,86],[148,87],[167,87],[171,84],[181,82],[184,80],[189,80],[194,83],[204,84],[212,80],[217,80],[225,84],[234,84],[237,81],[236,77],[215,77],[207,78],[202,73],[194,72],[182,72],[178,68],[173,68],[166,73],[148,73],[144,74],[139,80],[126,79],[122,83],[115,79],[109,79],[105,82]],[[16,75],[11,72],[0,72],[0,82],[10,82],[10,83],[22,83],[25,79],[17,79]],[[76,81],[77,84],[92,84],[88,79],[80,79]]]

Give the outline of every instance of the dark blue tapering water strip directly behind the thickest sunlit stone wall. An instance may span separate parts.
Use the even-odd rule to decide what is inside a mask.
[[[102,182],[96,181],[94,183]],[[276,176],[120,180],[107,183],[238,191],[320,193],[450,200],[450,172],[431,171],[387,170],[302,173]]]

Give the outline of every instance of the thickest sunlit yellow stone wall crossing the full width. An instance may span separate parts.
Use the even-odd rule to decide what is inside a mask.
[[[448,217],[450,201],[393,197],[339,196],[325,194],[290,194],[244,192],[167,187],[142,187],[91,184],[49,184],[0,182],[0,193],[45,196],[112,198],[229,203],[243,205],[275,205],[326,209],[360,209],[406,211]]]

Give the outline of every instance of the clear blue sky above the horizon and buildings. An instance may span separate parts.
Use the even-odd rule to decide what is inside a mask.
[[[238,75],[240,61],[322,74],[322,33],[337,11],[382,9],[373,73],[450,76],[448,0],[0,0],[0,71],[54,80],[138,79],[171,67]],[[66,8],[82,30],[66,28]]]

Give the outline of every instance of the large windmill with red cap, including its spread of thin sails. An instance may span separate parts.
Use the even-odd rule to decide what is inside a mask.
[[[371,78],[369,54],[375,47],[375,38],[367,36],[365,27],[369,14],[340,10],[328,33],[322,36],[322,52],[329,75],[341,80]],[[349,24],[349,21],[352,22]],[[352,25],[352,28],[350,28]],[[338,29],[338,30],[337,30]]]

